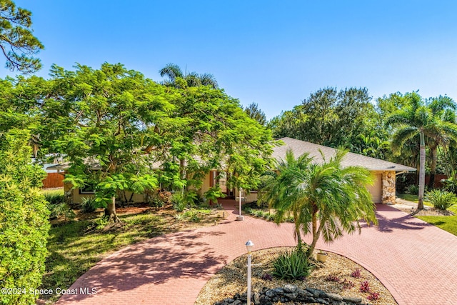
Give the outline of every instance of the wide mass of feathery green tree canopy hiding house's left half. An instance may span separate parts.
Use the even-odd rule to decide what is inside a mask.
[[[159,186],[194,197],[211,170],[225,171],[231,187],[256,189],[271,164],[271,131],[211,84],[176,76],[179,86],[164,86],[121,64],[53,66],[50,75],[0,82],[0,131],[29,129],[37,156],[65,156],[66,181],[94,187],[114,220],[116,198]],[[222,196],[214,187],[206,195]]]

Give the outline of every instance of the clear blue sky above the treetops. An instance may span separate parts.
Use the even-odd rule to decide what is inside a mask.
[[[457,1],[16,0],[51,64],[214,74],[268,118],[326,86],[457,99]],[[1,58],[0,58],[1,59]],[[1,59],[3,61],[3,59]],[[2,65],[4,63],[1,63]],[[0,69],[0,77],[11,75]]]

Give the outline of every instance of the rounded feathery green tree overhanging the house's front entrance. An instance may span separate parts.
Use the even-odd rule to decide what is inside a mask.
[[[164,161],[167,179],[176,187],[198,189],[204,175],[216,169],[227,172],[231,186],[256,189],[271,164],[271,131],[221,89],[184,84],[168,90],[176,96],[175,108],[156,125],[161,141],[146,149]]]

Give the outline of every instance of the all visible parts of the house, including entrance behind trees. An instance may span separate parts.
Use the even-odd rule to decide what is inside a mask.
[[[273,158],[276,160],[286,159],[286,151],[291,149],[294,156],[301,156],[302,154],[309,154],[313,157],[313,160],[317,163],[323,162],[322,154],[326,159],[330,159],[331,156],[334,156],[336,149],[333,149],[328,146],[322,146],[318,144],[313,144],[306,141],[301,141],[292,138],[282,138],[279,139],[283,142],[282,146],[276,146],[273,149]],[[395,204],[396,201],[396,175],[401,174],[405,171],[416,171],[416,169],[404,166],[401,164],[396,164],[393,162],[383,161],[381,159],[371,158],[368,156],[363,156],[360,154],[348,153],[343,159],[343,166],[363,166],[368,169],[371,174],[373,174],[374,184],[373,186],[368,186],[368,191],[371,193],[373,202],[376,204]],[[61,164],[60,166],[55,166],[56,169],[64,171],[68,168],[69,164]],[[158,165],[156,165],[159,168]],[[204,176],[201,186],[201,194],[204,194],[205,191],[208,191],[211,187],[219,185],[222,193],[226,195],[227,198],[237,199],[239,196],[239,191],[237,189],[231,188],[227,184],[227,177],[224,171],[209,171],[209,173]],[[66,201],[71,203],[81,203],[81,199],[88,196],[93,196],[93,189],[73,189],[71,184],[64,185],[64,191],[66,194]],[[131,194],[126,194],[130,196]],[[241,194],[245,202],[251,202],[257,200],[257,192],[251,191],[248,194]],[[146,201],[144,194],[134,194],[132,197],[134,202],[144,202]]]

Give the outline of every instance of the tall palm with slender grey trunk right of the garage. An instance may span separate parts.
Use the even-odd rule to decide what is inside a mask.
[[[387,125],[397,126],[392,136],[391,147],[393,151],[399,153],[406,141],[419,135],[419,193],[418,209],[423,209],[423,192],[425,189],[425,164],[426,164],[426,137],[429,139],[431,151],[444,144],[448,137],[457,136],[455,124],[443,121],[442,111],[451,108],[453,101],[450,99],[433,99],[426,103],[416,92],[406,94],[408,99],[407,106],[389,116],[386,119]],[[452,101],[452,104],[451,104]],[[436,155],[436,154],[435,154]],[[433,161],[433,159],[435,159]],[[432,165],[436,169],[436,158],[432,156]],[[416,211],[416,212],[417,212]]]

